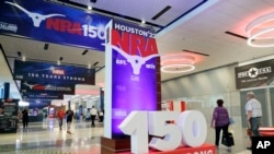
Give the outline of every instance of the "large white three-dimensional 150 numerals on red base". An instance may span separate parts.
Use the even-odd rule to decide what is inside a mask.
[[[167,121],[174,121],[168,123]],[[132,153],[148,153],[152,147],[171,151],[180,145],[197,147],[205,143],[207,125],[197,110],[132,111],[119,125],[123,133],[130,135]],[[152,139],[148,143],[148,134]]]

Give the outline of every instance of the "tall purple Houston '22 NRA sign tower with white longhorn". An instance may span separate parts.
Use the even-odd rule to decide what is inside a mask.
[[[118,125],[133,110],[157,110],[153,32],[114,20],[106,27],[105,134],[123,135]],[[110,74],[109,74],[110,73]],[[110,115],[107,115],[110,114]],[[107,121],[110,120],[110,122]]]

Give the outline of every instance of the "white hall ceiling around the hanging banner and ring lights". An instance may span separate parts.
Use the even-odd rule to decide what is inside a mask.
[[[176,12],[182,12],[184,7],[191,2],[194,1],[98,0],[93,7],[165,26],[172,19],[178,17],[179,13]],[[151,17],[165,5],[172,7],[170,14],[165,14],[167,16],[160,17],[159,21],[152,21]],[[244,31],[246,26],[255,17],[274,12],[273,0],[208,0],[208,5],[210,7],[199,8],[183,16],[157,35],[158,50],[161,56],[183,52],[183,49],[209,55],[196,55],[199,59],[196,59],[195,70],[191,72],[161,73],[162,81],[274,54],[273,48],[250,47],[246,39],[225,33],[228,31],[248,37]],[[64,57],[62,62],[66,63],[87,66],[99,61],[96,67],[104,68],[104,52],[101,51],[90,50],[85,56],[82,56],[83,48],[54,44],[49,44],[49,49],[44,50],[45,43],[10,36],[0,36],[0,44],[8,59],[16,57],[16,52],[21,51],[26,59],[57,61],[59,57]],[[2,71],[0,71],[0,76],[3,76]],[[96,73],[96,83],[102,82],[104,82],[104,69]]]

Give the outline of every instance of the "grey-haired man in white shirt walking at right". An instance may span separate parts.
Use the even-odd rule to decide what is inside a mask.
[[[251,145],[251,138],[252,137],[260,137],[259,128],[262,126],[262,105],[255,98],[255,94],[253,92],[247,93],[247,104],[246,104],[246,114],[247,114],[247,122],[248,128],[251,131],[249,146],[248,150],[252,149]]]

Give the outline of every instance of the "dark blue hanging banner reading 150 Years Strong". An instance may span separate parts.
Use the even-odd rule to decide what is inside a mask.
[[[71,85],[81,83],[94,85],[95,83],[94,69],[64,64],[58,66],[55,63],[36,61],[14,60],[13,75],[15,80],[25,81],[23,82],[23,84],[26,82],[33,82],[43,84],[43,86],[46,86],[48,83],[58,85]],[[26,83],[25,85],[28,87],[34,86],[30,83]],[[66,87],[61,88],[66,90]]]

